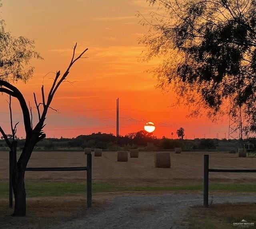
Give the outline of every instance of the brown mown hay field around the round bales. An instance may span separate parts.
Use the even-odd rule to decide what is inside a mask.
[[[171,152],[171,168],[154,168],[155,152],[140,152],[139,158],[117,162],[116,152],[103,152],[102,157],[92,153],[92,179],[122,184],[188,184],[202,182],[203,155],[210,154],[210,168],[255,169],[256,158],[238,158],[238,154],[223,152]],[[8,180],[8,152],[0,152],[0,181]],[[34,152],[28,167],[86,166],[83,152]],[[78,172],[26,172],[26,180],[82,181],[85,171]],[[210,173],[218,182],[250,182],[254,173]]]

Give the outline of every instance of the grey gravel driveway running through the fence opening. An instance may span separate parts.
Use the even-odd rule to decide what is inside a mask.
[[[214,195],[213,203],[256,202],[255,195]],[[64,229],[185,229],[186,210],[202,205],[202,195],[126,194],[103,208],[92,208],[84,219],[68,221]]]

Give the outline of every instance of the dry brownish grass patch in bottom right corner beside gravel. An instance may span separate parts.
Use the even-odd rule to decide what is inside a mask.
[[[239,204],[214,204],[209,208],[192,207],[189,210],[188,228],[190,229],[234,229],[241,228],[233,226],[242,219],[248,223],[255,223],[256,227],[256,205],[255,203]]]

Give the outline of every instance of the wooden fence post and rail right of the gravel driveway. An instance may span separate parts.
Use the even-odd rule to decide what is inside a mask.
[[[231,170],[231,169],[210,169],[209,168],[209,155],[204,155],[204,207],[208,207],[209,198],[209,172],[256,172],[256,170]]]

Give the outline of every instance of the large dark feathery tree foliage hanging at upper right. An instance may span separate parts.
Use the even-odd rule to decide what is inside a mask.
[[[235,115],[242,107],[256,132],[256,1],[148,2],[158,12],[142,20],[149,30],[140,42],[146,59],[164,57],[154,71],[159,87],[171,86],[195,114],[203,108]]]

